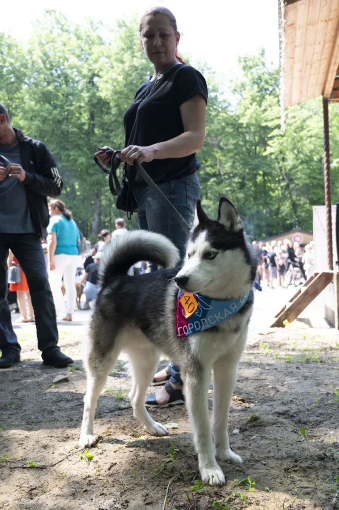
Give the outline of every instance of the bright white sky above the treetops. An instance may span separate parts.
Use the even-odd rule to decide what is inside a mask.
[[[134,12],[141,16],[154,5],[164,5],[176,16],[182,33],[179,52],[206,61],[220,78],[232,78],[238,56],[255,54],[261,47],[278,63],[276,0],[17,0],[2,2],[0,30],[26,40],[45,9],[80,23],[91,17],[114,25],[116,19],[128,19]]]

